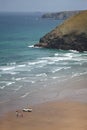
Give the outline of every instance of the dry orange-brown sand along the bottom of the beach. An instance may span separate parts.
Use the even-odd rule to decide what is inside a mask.
[[[87,104],[77,102],[47,102],[32,107],[32,112],[6,114],[0,120],[0,130],[87,130]]]

